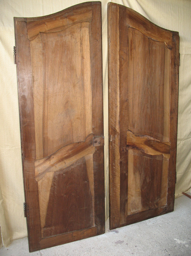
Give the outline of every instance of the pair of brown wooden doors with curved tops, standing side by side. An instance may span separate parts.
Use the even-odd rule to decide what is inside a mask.
[[[102,234],[101,3],[15,18],[15,40],[29,251]],[[176,32],[108,4],[110,228],[173,210],[177,56]]]

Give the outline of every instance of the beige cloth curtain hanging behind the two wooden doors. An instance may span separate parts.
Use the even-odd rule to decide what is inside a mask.
[[[0,1],[0,247],[27,236],[23,214],[24,189],[21,165],[13,17],[37,17],[58,12],[85,0]],[[102,0],[105,202],[108,218],[108,91],[107,3]],[[113,0],[144,15],[155,24],[180,35],[180,79],[176,197],[191,187],[191,1]]]

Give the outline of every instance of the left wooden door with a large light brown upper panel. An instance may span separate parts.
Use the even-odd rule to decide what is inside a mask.
[[[104,233],[100,2],[14,18],[29,250]]]

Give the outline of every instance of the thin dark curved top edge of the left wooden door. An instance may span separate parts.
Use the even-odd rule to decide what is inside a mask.
[[[63,12],[69,12],[70,10],[74,10],[74,9],[77,9],[77,8],[82,8],[84,6],[91,6],[91,5],[101,5],[101,2],[95,1],[95,2],[79,3],[77,5],[73,5],[73,6],[70,6],[70,7],[66,8],[66,9],[63,9],[62,11],[55,12],[55,13],[52,13],[52,14],[49,14],[49,15],[45,15],[45,16],[39,16],[39,17],[13,17],[13,18],[14,18],[14,20],[17,20],[17,21],[24,21],[26,19],[27,19],[27,21],[45,20],[47,18],[57,17],[57,16],[63,14]]]

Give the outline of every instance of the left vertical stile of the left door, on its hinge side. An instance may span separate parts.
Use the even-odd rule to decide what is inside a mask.
[[[21,152],[23,163],[24,194],[29,238],[29,251],[40,249],[40,213],[38,184],[34,180],[34,161],[36,160],[32,68],[30,42],[27,39],[26,20],[15,18],[16,69],[18,79],[18,102],[21,130]],[[26,53],[28,53],[26,55]]]

